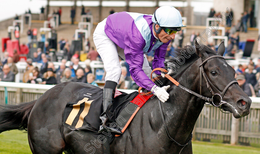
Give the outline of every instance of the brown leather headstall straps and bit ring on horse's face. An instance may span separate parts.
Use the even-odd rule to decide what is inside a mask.
[[[220,55],[211,56],[211,57],[205,59],[203,62],[202,62],[201,58],[199,59],[199,60],[200,60],[200,65],[199,65],[199,67],[200,67],[200,95],[201,95],[201,87],[202,87],[202,81],[201,81],[201,80],[202,80],[202,75],[203,75],[203,77],[204,77],[204,79],[205,79],[205,81],[206,81],[206,85],[207,85],[207,87],[209,88],[211,94],[213,95],[213,96],[212,96],[212,99],[213,99],[214,96],[216,96],[216,95],[218,95],[218,96],[220,97],[220,99],[221,99],[219,105],[215,105],[214,102],[213,102],[213,100],[207,100],[207,101],[208,101],[209,103],[210,103],[210,101],[211,101],[213,106],[219,107],[219,108],[220,108],[220,111],[223,112],[223,111],[221,110],[221,106],[222,106],[222,104],[226,104],[227,102],[226,102],[226,101],[223,101],[222,98],[223,98],[223,96],[224,96],[226,90],[227,90],[233,83],[237,83],[237,84],[238,84],[238,82],[235,81],[235,80],[234,80],[234,81],[231,81],[231,82],[229,82],[229,84],[227,84],[227,86],[223,89],[222,92],[219,91],[219,90],[211,83],[211,81],[209,80],[209,78],[207,77],[207,75],[206,75],[206,73],[205,73],[205,71],[204,71],[204,69],[203,69],[203,65],[204,65],[208,60],[213,59],[213,58],[222,58],[222,59],[225,60],[225,58],[224,58],[223,56],[220,56]],[[214,90],[212,89],[212,87],[214,88],[214,90],[215,90],[216,92],[214,92]],[[207,105],[209,105],[209,104],[207,104]],[[226,112],[223,112],[223,113],[226,113]]]

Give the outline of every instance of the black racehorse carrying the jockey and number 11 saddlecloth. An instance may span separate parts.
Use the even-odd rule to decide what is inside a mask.
[[[208,59],[216,55],[222,56],[225,51],[224,44],[220,44],[217,53],[207,46],[199,45],[197,42],[195,44],[196,51],[195,48],[186,46],[178,50],[179,58],[168,62],[176,64],[176,71],[171,76],[196,93],[200,93],[201,85],[201,95],[207,98],[212,97],[209,87],[214,86],[212,90],[215,93],[216,90],[226,89],[223,94],[223,101],[226,103],[223,103],[221,108],[232,112],[235,118],[248,115],[251,99],[237,83],[232,82],[235,80],[234,69],[220,56]],[[201,64],[205,59],[206,62]],[[206,73],[202,74],[203,76],[200,74],[200,66]],[[203,79],[204,75],[210,81],[210,86],[209,82]],[[168,89],[170,98],[167,102],[161,103],[167,129],[162,120],[158,99],[149,99],[137,112],[124,134],[115,137],[111,142],[111,153],[192,154],[192,143],[189,140],[206,101],[175,86],[166,78],[160,78],[160,82],[160,86],[171,85]],[[90,86],[65,82],[47,90],[37,100],[3,107],[0,112],[0,133],[13,129],[28,130],[28,141],[33,154],[62,154],[63,151],[69,154],[102,154],[103,147],[97,138],[88,132],[73,131],[63,126],[62,116],[67,102],[75,101],[79,94]],[[215,106],[221,103],[219,96],[211,101]],[[187,146],[180,146],[171,141],[167,131],[177,143]]]

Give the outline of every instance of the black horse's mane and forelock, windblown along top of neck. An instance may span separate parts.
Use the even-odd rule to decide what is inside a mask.
[[[217,55],[215,51],[213,51],[210,47],[205,45],[203,45],[203,47],[200,50],[206,51],[208,55]],[[177,78],[180,74],[182,74],[182,72],[184,72],[186,68],[188,68],[188,66],[193,64],[199,58],[199,55],[197,55],[196,49],[193,46],[184,46],[182,48],[175,49],[173,55],[174,57],[169,57],[166,60],[168,61],[167,65],[172,66],[174,69],[174,73],[170,74],[170,76],[174,79]],[[167,78],[159,77],[158,79],[161,83],[163,83],[162,86],[168,84],[169,80]]]

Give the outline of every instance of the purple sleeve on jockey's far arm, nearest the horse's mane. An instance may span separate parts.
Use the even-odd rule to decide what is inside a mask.
[[[159,46],[155,52],[154,52],[154,60],[153,60],[153,68],[163,68],[164,67],[164,61],[165,61],[165,55],[167,51],[167,46],[169,45],[171,41],[167,43],[163,43],[161,46]],[[159,71],[155,71],[156,74],[161,75]]]

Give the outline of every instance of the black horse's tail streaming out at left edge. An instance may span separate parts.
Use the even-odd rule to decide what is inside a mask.
[[[7,130],[26,130],[28,118],[37,100],[18,105],[0,106],[0,133]]]

